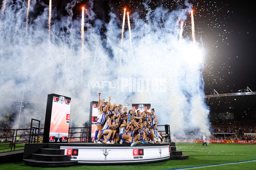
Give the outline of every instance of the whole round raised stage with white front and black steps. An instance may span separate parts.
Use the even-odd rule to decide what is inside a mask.
[[[37,167],[61,167],[77,164],[142,164],[169,159],[188,159],[175,143],[161,144],[93,144],[40,143],[25,144],[23,162]]]

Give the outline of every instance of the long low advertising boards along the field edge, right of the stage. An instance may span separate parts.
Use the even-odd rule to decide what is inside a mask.
[[[172,142],[176,143],[203,143],[202,139],[173,139]],[[213,140],[207,139],[207,143],[248,143],[248,144],[255,144],[256,141],[251,140]]]

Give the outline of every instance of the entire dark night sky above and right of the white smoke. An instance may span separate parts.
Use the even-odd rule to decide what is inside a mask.
[[[67,14],[64,7],[72,0],[55,0],[53,8],[61,15]],[[89,0],[77,3],[73,12],[74,19],[81,15],[81,6]],[[93,0],[93,11],[96,17],[108,23],[112,11],[122,20],[122,9],[126,7],[137,12],[143,18],[147,12],[142,3],[144,0]],[[177,2],[177,3],[176,3]],[[169,11],[185,8],[184,0],[151,0],[148,6],[152,9],[164,6]],[[49,3],[44,0],[44,3]],[[205,54],[203,77],[205,93],[212,94],[215,89],[221,93],[235,93],[247,86],[256,91],[254,79],[256,59],[254,57],[254,23],[253,1],[241,0],[189,0],[193,4],[196,39],[202,42]],[[177,5],[180,4],[180,5]],[[132,20],[132,19],[131,19]],[[93,21],[91,21],[93,22]],[[132,22],[132,21],[131,21]],[[190,17],[184,28],[184,35],[191,34]],[[104,25],[103,25],[104,26]],[[104,31],[104,28],[102,28]]]

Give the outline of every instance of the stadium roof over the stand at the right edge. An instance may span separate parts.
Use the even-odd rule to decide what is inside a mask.
[[[256,112],[256,92],[206,95],[211,113]]]

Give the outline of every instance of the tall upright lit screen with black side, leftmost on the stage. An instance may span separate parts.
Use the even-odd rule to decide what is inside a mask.
[[[44,123],[44,143],[67,142],[71,98],[49,94]]]

